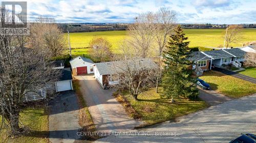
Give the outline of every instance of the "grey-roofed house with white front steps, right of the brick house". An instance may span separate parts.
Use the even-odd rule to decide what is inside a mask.
[[[221,67],[232,64],[237,68],[241,67],[240,62],[245,61],[244,56],[246,54],[240,48],[204,51],[203,53],[212,59],[211,66]]]

